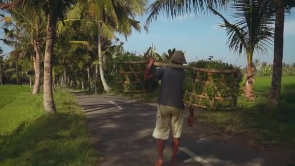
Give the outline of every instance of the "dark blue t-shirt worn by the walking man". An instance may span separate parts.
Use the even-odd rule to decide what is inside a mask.
[[[155,75],[158,80],[161,80],[158,104],[183,109],[185,70],[161,67],[156,70]]]

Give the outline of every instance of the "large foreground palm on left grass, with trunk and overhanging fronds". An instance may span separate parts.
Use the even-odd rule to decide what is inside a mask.
[[[44,53],[44,111],[47,114],[56,113],[52,91],[52,54],[54,47],[56,23],[58,18],[63,19],[67,7],[72,0],[2,0],[0,8],[36,8],[44,11],[47,17],[47,35]]]

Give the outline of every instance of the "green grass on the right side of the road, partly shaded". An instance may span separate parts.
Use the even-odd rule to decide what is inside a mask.
[[[245,97],[238,100],[238,108],[230,112],[197,111],[197,119],[211,125],[230,129],[234,133],[247,132],[260,145],[280,145],[295,148],[295,77],[282,79],[279,110],[265,111],[271,78],[256,78],[255,101]]]

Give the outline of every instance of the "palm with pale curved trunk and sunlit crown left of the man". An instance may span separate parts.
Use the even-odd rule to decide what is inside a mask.
[[[144,14],[146,4],[147,0],[89,0],[90,16],[98,20],[98,64],[101,82],[106,92],[110,92],[111,88],[104,77],[104,58],[101,52],[101,33],[106,27],[103,26],[107,24],[111,25],[115,31],[123,33],[127,37],[127,35],[131,34],[131,27],[136,30],[140,29],[139,22],[133,18],[136,15]],[[106,24],[102,24],[102,22]]]

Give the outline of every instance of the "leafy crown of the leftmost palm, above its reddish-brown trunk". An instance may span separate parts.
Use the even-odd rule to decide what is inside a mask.
[[[11,8],[6,10],[9,16],[2,16],[5,44],[18,51],[20,56],[33,55],[33,40],[42,40],[46,34],[46,22],[42,11],[28,8]],[[8,30],[11,29],[11,30]]]

